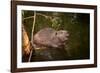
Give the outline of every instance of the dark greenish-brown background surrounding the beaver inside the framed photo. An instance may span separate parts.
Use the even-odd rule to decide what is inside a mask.
[[[34,15],[34,11],[22,12],[24,12],[23,18]],[[34,34],[44,27],[50,27],[55,30],[67,30],[70,35],[66,45],[62,48],[47,48],[33,51],[31,61],[80,60],[90,58],[90,15],[88,13],[42,11],[36,13]],[[31,40],[33,18],[24,20],[23,24]],[[27,61],[27,59],[28,56],[23,57],[23,61]]]

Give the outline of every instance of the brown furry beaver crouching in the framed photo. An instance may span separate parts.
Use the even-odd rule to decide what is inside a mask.
[[[46,46],[58,48],[65,45],[68,40],[69,33],[66,30],[56,31],[53,28],[43,28],[33,37],[33,43],[36,47]]]

